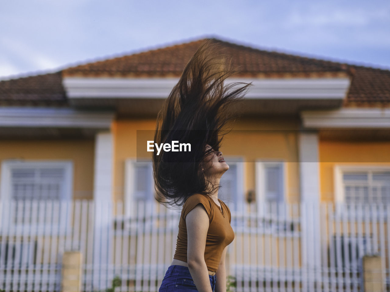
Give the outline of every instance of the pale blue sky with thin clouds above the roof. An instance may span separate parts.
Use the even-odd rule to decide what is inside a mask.
[[[390,70],[388,0],[12,0],[0,27],[0,79],[204,37]]]

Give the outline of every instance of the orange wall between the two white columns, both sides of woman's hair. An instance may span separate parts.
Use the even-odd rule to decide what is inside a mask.
[[[124,169],[128,158],[151,158],[144,152],[137,156],[137,130],[149,130],[140,134],[153,140],[155,119],[117,120],[113,124],[114,139],[114,199],[124,199]],[[299,200],[299,165],[297,129],[298,120],[280,118],[241,118],[234,123],[233,131],[225,135],[221,151],[224,156],[243,157],[244,192],[255,189],[255,164],[257,159],[279,159],[287,163],[287,198]],[[142,139],[146,141],[146,139]],[[140,141],[137,141],[140,147]],[[146,144],[145,144],[146,149]],[[229,161],[227,161],[229,164]]]

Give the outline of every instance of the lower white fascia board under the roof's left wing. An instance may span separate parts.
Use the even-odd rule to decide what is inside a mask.
[[[0,127],[62,127],[110,129],[113,112],[77,111],[69,108],[1,107]]]

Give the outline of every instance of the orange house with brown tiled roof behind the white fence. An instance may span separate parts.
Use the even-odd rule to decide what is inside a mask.
[[[125,218],[138,202],[158,210],[146,141],[202,41],[0,81],[0,200],[121,201]],[[239,71],[229,80],[254,84],[221,148],[230,169],[220,197],[233,213],[390,202],[390,70],[213,42]],[[7,230],[22,230],[14,216]],[[321,265],[321,245],[310,252]]]

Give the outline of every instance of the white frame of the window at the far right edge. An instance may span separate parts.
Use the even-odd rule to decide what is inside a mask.
[[[333,181],[335,202],[337,203],[337,215],[342,215],[342,205],[345,202],[343,173],[344,172],[376,172],[376,171],[390,171],[390,166],[381,165],[340,165],[336,164],[333,167]]]

